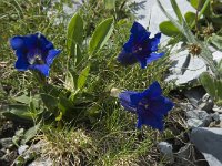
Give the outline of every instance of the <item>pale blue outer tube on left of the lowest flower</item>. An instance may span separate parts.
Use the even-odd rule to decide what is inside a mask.
[[[132,113],[137,113],[137,105],[132,103],[131,96],[138,94],[138,92],[134,91],[125,91],[119,94],[120,103],[121,105]]]

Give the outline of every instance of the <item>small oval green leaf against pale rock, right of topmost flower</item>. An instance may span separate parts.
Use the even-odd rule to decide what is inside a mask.
[[[159,28],[160,28],[160,31],[168,37],[176,37],[181,34],[181,32],[171,21],[161,22]]]

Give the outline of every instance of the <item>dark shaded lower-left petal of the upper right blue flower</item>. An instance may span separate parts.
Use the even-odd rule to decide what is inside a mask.
[[[118,55],[118,61],[122,65],[131,65],[131,64],[134,64],[134,63],[138,62],[138,60],[135,59],[135,56],[132,53],[128,53],[124,49]]]

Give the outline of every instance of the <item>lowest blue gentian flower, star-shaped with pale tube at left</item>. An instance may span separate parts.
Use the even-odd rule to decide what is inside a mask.
[[[143,92],[125,91],[119,95],[121,105],[138,114],[138,128],[149,125],[163,129],[163,117],[173,107],[173,103],[162,95],[162,89],[154,82]]]

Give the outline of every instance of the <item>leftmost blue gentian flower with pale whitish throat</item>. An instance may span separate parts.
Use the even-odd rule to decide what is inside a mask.
[[[17,35],[10,39],[11,48],[16,51],[16,69],[19,71],[37,70],[49,76],[50,65],[60,50],[41,33]]]

